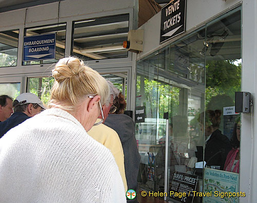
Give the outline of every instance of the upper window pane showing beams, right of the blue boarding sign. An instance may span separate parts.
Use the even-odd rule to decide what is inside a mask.
[[[75,22],[72,54],[83,60],[127,57],[128,19],[123,14]]]

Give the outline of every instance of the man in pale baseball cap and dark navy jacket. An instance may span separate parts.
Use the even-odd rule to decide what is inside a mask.
[[[32,93],[22,93],[17,96],[12,103],[12,108],[14,113],[11,117],[0,123],[0,138],[10,129],[45,109],[39,97]]]

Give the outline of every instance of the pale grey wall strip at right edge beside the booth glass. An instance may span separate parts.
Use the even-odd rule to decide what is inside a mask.
[[[246,192],[241,202],[257,202],[257,2],[243,1],[242,9],[242,91],[250,92],[253,99],[253,125],[251,114],[242,115],[240,190]],[[253,130],[253,131],[252,131]]]

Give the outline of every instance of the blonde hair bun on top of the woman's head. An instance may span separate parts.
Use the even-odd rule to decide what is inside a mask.
[[[60,83],[64,79],[75,77],[84,69],[85,65],[80,59],[76,57],[62,58],[52,70],[52,76]]]

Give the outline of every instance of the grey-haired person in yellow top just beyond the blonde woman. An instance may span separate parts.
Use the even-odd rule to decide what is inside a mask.
[[[127,182],[126,182],[125,169],[124,169],[124,154],[123,154],[120,138],[119,138],[119,135],[112,128],[109,128],[104,125],[104,121],[107,118],[108,114],[110,113],[110,109],[111,111],[116,110],[116,108],[113,107],[113,99],[119,95],[119,91],[108,80],[107,80],[107,83],[110,89],[110,96],[111,96],[110,103],[108,106],[106,105],[101,106],[101,104],[99,104],[101,108],[100,115],[95,125],[93,126],[93,128],[91,128],[91,130],[89,130],[87,133],[112,152],[115,158],[116,164],[118,165],[120,175],[123,180],[125,192],[126,192]]]

